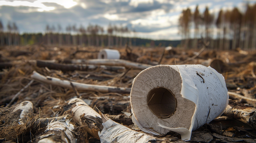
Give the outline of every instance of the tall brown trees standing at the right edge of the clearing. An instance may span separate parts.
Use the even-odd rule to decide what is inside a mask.
[[[206,7],[200,13],[198,6],[192,12],[189,8],[182,11],[179,18],[179,33],[183,47],[199,48],[200,40],[209,42],[211,49],[256,49],[256,4],[247,4],[241,12],[237,7],[220,10],[215,18]]]

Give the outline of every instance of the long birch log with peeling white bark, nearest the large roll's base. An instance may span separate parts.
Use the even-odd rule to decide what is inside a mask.
[[[74,122],[93,137],[100,139],[101,143],[113,143],[114,141],[118,143],[159,141],[160,143],[163,141],[146,133],[136,132],[108,119],[101,112],[98,113],[93,110],[82,99],[71,99],[65,108],[70,109],[67,112],[72,113]]]

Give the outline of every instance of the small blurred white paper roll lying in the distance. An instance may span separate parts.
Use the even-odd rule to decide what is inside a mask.
[[[101,49],[98,52],[98,59],[120,59],[120,53],[118,50]]]

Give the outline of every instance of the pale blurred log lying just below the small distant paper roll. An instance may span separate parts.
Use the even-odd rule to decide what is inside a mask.
[[[89,64],[89,65],[105,65],[105,66],[124,66],[126,68],[134,68],[134,69],[146,69],[151,67],[151,65],[135,63],[122,59],[90,59],[90,60],[66,60],[63,63],[70,64]]]

